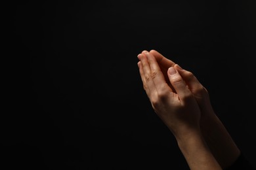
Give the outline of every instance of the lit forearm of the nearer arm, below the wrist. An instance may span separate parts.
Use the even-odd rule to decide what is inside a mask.
[[[176,139],[190,169],[221,169],[200,133]]]

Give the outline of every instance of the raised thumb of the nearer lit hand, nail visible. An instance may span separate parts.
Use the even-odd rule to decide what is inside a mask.
[[[190,90],[188,90],[186,83],[175,67],[169,67],[168,76],[181,101],[184,101],[187,97],[192,96],[192,93]]]

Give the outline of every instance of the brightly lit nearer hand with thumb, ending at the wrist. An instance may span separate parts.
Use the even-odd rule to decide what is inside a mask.
[[[152,54],[144,52],[139,54],[138,58],[144,90],[156,114],[175,137],[184,137],[184,134],[190,134],[191,131],[200,131],[200,108],[177,69],[167,69],[167,77],[174,92],[168,86]]]

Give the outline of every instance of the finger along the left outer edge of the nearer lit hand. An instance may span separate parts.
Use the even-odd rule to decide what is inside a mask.
[[[152,93],[156,92],[156,86],[152,80],[150,64],[144,54],[140,54],[139,58],[144,90],[146,90],[148,97],[151,97]]]

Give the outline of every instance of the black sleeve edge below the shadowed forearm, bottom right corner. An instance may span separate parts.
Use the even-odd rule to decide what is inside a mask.
[[[244,154],[240,154],[238,159],[226,170],[256,170],[248,160],[246,160]]]

